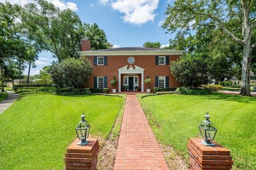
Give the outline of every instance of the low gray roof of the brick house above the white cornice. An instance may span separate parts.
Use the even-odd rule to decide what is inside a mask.
[[[169,49],[151,49],[151,48],[143,48],[143,47],[121,47],[114,49],[101,49],[101,50],[92,50],[92,51],[176,51]]]

